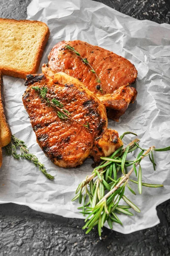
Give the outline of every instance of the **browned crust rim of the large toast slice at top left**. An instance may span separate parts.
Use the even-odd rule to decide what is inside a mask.
[[[3,19],[3,18],[0,18],[0,23],[1,22],[8,22],[8,23],[11,23],[11,25],[13,23],[36,23],[36,24],[43,24],[43,26],[45,27],[45,32],[44,34],[42,35],[42,40],[41,40],[41,43],[39,44],[39,47],[37,49],[37,54],[35,55],[35,58],[34,58],[34,64],[33,64],[33,67],[31,70],[23,70],[23,71],[17,71],[15,70],[14,68],[10,68],[10,67],[3,67],[3,66],[0,66],[0,70],[2,72],[2,75],[6,75],[6,76],[13,76],[13,77],[17,77],[17,78],[23,78],[25,79],[26,78],[26,75],[27,74],[34,74],[37,72],[39,66],[40,66],[40,61],[41,61],[41,58],[42,58],[42,54],[43,54],[43,51],[45,49],[45,46],[47,44],[47,41],[48,41],[48,38],[49,38],[49,35],[50,35],[50,31],[48,29],[48,26],[41,22],[41,21],[37,21],[37,20],[13,20],[13,19]]]

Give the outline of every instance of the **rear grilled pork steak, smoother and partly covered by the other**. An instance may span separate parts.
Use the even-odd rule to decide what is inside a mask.
[[[103,93],[99,90],[96,74],[91,72],[91,67],[67,49],[66,45],[74,47],[82,58],[87,58],[101,81]],[[137,91],[130,87],[137,77],[134,65],[113,52],[83,41],[61,41],[56,44],[48,55],[47,66],[42,65],[42,72],[48,76],[65,72],[82,81],[109,109],[108,116],[115,121],[119,121],[129,103],[136,99]]]

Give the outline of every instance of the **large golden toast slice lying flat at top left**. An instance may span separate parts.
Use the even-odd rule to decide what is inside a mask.
[[[0,18],[0,70],[3,75],[26,78],[37,72],[49,37],[40,21]]]

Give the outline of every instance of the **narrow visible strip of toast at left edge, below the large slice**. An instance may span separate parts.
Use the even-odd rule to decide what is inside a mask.
[[[5,100],[3,95],[3,77],[0,73],[0,140],[1,147],[8,145],[11,141],[11,130],[9,128],[6,111],[5,111]]]

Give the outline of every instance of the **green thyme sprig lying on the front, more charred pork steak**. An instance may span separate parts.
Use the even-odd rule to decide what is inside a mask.
[[[87,125],[85,124],[82,124],[81,122],[77,121],[76,119],[72,118],[71,117],[71,113],[64,108],[64,105],[62,103],[60,103],[57,99],[53,98],[53,99],[48,99],[46,97],[46,94],[48,93],[48,88],[47,87],[38,87],[38,86],[32,86],[32,89],[34,89],[35,91],[37,91],[40,95],[40,97],[45,101],[45,103],[48,105],[48,106],[51,106],[53,108],[56,108],[58,111],[57,111],[57,116],[60,118],[60,119],[71,119],[73,120],[74,122],[77,122],[78,124],[80,125],[83,125],[84,127],[88,128],[90,127],[89,123],[87,122]]]

